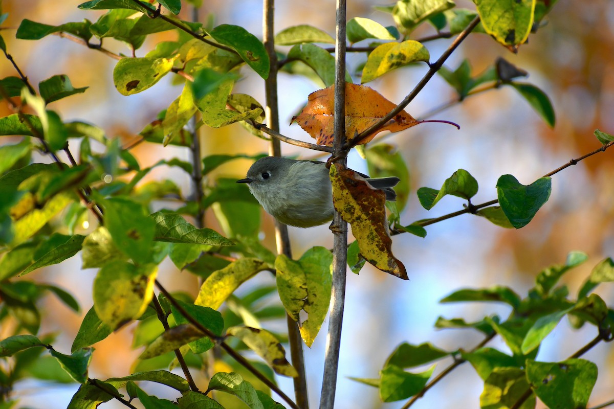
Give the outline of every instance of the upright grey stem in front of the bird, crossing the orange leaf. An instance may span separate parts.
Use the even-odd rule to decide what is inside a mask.
[[[333,161],[345,166],[348,151],[344,150],[345,141],[345,53],[346,53],[346,0],[337,0],[335,33],[335,140],[333,142]],[[333,163],[332,166],[335,166]],[[333,289],[330,297],[330,317],[326,338],[326,357],[324,378],[322,380],[321,409],[335,406],[335,389],[339,366],[341,327],[345,302],[348,223],[335,211],[333,219]]]

